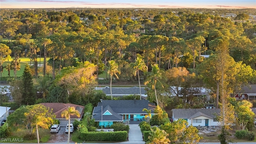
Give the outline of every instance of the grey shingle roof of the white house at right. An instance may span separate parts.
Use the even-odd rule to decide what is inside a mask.
[[[172,116],[175,119],[183,118],[183,119],[191,119],[196,118],[198,116],[205,116],[207,118],[215,118],[215,114],[220,114],[219,108],[214,109],[201,109],[201,108],[177,108],[172,109]]]

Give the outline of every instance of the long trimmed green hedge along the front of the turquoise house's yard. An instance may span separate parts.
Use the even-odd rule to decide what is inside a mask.
[[[116,141],[123,142],[128,138],[127,131],[118,132],[85,132],[80,133],[80,139],[83,141]]]

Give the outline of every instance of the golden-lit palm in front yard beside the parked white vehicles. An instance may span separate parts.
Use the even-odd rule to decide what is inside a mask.
[[[68,107],[66,110],[61,112],[61,117],[68,119],[68,144],[70,140],[70,115],[80,117],[80,113],[74,106]]]

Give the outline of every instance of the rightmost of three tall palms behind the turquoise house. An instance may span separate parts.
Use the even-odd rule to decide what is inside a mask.
[[[145,85],[147,85],[148,83],[152,84],[152,89],[154,89],[154,91],[155,91],[157,105],[158,105],[158,98],[156,95],[156,82],[160,82],[160,79],[165,78],[164,76],[162,76],[163,72],[164,71],[160,70],[160,68],[158,67],[158,64],[152,65],[152,70],[151,70],[150,74],[148,75],[146,82],[144,82]],[[161,82],[160,82],[160,84],[162,87],[164,87]]]

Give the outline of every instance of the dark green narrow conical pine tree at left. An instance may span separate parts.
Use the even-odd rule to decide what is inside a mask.
[[[28,64],[26,64],[22,74],[22,104],[34,104],[36,100],[35,96],[31,70]]]

